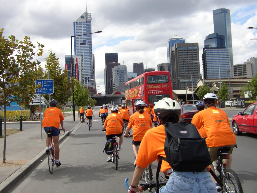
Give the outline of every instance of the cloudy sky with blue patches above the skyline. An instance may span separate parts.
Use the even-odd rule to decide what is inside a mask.
[[[42,67],[52,49],[64,69],[73,22],[85,7],[85,0],[1,0],[0,28],[5,37],[30,36],[34,44],[44,44]],[[167,63],[166,41],[177,35],[199,43],[201,58],[204,39],[213,33],[212,10],[218,8],[230,9],[234,64],[257,57],[257,40],[251,40],[257,30],[247,29],[257,27],[256,0],[87,0],[92,32],[103,31],[92,35],[98,92],[104,91],[105,53],[118,53],[119,63],[129,72],[135,62],[157,69],[157,64]]]

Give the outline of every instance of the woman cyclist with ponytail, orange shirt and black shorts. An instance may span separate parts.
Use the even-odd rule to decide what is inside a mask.
[[[137,100],[134,103],[136,107],[136,112],[130,116],[129,124],[126,128],[125,137],[128,136],[128,133],[133,125],[133,139],[132,139],[132,148],[135,154],[135,162],[137,160],[138,146],[140,145],[146,131],[151,129],[153,125],[151,117],[148,113],[144,111],[145,103],[141,100]],[[134,166],[136,166],[134,162]]]

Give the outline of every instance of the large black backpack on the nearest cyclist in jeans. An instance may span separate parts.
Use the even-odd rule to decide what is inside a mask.
[[[167,122],[164,125],[166,158],[159,156],[157,184],[162,159],[175,171],[202,171],[212,163],[205,139],[192,123],[180,121]],[[157,187],[156,192],[159,192],[159,186]]]

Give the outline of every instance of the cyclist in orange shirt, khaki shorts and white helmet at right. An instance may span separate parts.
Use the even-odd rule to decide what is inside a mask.
[[[218,100],[216,94],[207,93],[204,95],[203,102],[207,109],[196,113],[192,119],[192,123],[197,129],[204,128],[207,135],[206,144],[212,161],[218,158],[218,149],[222,147],[229,147],[229,159],[223,160],[227,168],[231,168],[232,164],[232,150],[236,142],[235,134],[230,129],[229,118],[226,112],[216,108],[216,101]],[[210,168],[215,172],[213,165]],[[214,182],[216,180],[212,178]],[[221,190],[216,182],[217,190]]]

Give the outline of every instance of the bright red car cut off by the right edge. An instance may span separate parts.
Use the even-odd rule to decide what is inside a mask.
[[[243,131],[257,134],[257,102],[235,115],[232,119],[232,127],[235,135],[241,135]]]

